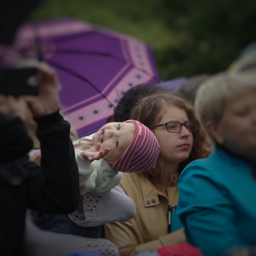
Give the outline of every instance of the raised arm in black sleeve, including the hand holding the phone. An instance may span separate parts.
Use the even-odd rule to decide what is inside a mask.
[[[26,96],[41,143],[41,168],[34,169],[28,180],[29,207],[43,212],[70,213],[79,205],[79,173],[70,124],[58,113],[58,79],[54,70],[38,67],[40,79],[37,96]]]

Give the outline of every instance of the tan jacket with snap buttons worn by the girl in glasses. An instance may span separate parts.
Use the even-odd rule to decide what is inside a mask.
[[[142,173],[123,175],[119,187],[134,201],[136,216],[127,222],[105,225],[106,239],[119,247],[120,255],[132,256],[186,241],[183,229],[167,233],[168,205],[178,202],[178,178],[178,172],[172,175],[166,197]]]

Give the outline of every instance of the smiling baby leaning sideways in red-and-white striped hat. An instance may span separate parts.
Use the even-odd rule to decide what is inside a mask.
[[[73,144],[81,195],[105,195],[120,183],[119,172],[153,168],[160,151],[154,134],[135,120],[107,123],[95,134]]]

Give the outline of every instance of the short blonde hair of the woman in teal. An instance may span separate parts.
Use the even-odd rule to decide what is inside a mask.
[[[216,140],[206,129],[206,122],[218,124],[225,104],[249,89],[256,89],[256,79],[247,75],[221,73],[212,76],[198,89],[195,98],[195,113],[198,121],[214,144]]]

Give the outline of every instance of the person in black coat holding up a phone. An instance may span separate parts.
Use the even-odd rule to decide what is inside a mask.
[[[8,97],[0,96],[1,255],[24,254],[26,209],[67,214],[79,206],[79,173],[70,124],[58,113],[58,80],[47,67],[38,67],[38,72],[38,95],[25,98],[38,122],[41,166],[29,161],[32,140],[22,120],[8,115]]]

